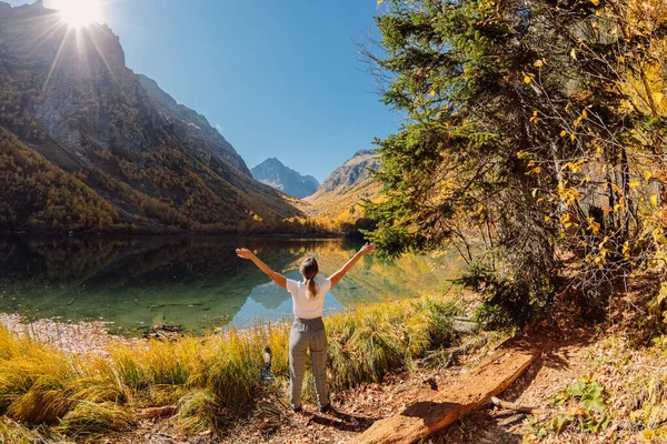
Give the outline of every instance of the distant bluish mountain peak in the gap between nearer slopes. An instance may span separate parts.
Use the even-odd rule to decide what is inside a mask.
[[[301,175],[276,158],[265,160],[251,172],[258,181],[299,199],[315,193],[319,188],[319,182],[312,175]]]

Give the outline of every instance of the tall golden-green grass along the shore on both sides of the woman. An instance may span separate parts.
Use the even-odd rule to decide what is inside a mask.
[[[418,299],[327,317],[331,387],[380,381],[426,351],[449,345],[454,314],[442,300]],[[173,421],[181,431],[219,431],[256,405],[267,345],[273,375],[288,377],[289,332],[289,325],[268,324],[116,345],[103,361],[61,353],[0,327],[0,415],[77,437],[131,428],[132,408],[177,404]]]

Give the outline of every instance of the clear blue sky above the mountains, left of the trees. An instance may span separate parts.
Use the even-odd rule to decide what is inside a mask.
[[[377,0],[106,6],[128,67],[206,115],[249,168],[276,157],[320,181],[400,123],[379,103],[352,41],[377,13]]]

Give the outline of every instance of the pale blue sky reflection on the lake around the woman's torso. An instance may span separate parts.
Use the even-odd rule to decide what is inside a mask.
[[[301,281],[299,272],[286,273],[286,278]],[[334,290],[336,291],[336,290]],[[338,302],[331,292],[325,296],[323,314],[342,310],[344,305]],[[248,295],[248,300],[241,310],[233,316],[232,323],[241,327],[266,321],[291,321],[293,319],[292,300],[287,290],[275,282],[258,285]]]

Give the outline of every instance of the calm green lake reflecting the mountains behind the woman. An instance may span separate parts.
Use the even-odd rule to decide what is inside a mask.
[[[196,236],[0,238],[0,312],[29,320],[112,322],[111,330],[140,333],[151,325],[187,331],[233,323],[290,319],[289,293],[251,262],[253,250],[269,266],[299,280],[308,254],[320,278],[338,270],[360,246],[344,240]],[[432,293],[460,273],[456,255],[366,256],[327,293],[325,311]]]

